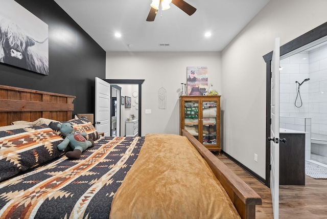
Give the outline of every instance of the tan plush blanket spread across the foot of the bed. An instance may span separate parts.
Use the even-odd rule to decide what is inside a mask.
[[[186,137],[148,134],[114,194],[110,218],[239,218],[239,214]]]

